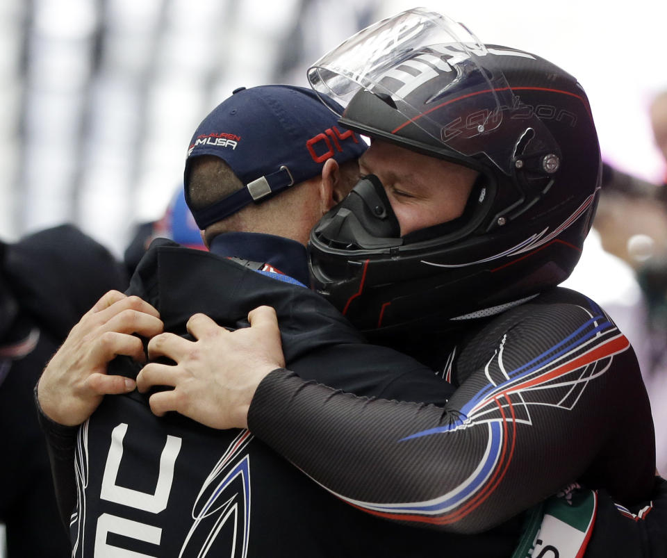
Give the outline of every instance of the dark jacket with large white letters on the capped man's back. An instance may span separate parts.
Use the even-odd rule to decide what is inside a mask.
[[[284,248],[289,241],[280,244]],[[295,267],[305,272],[301,252]],[[237,327],[247,325],[249,310],[271,304],[283,327],[286,359],[308,379],[361,395],[445,403],[451,386],[442,378],[406,356],[363,343],[319,295],[273,277],[168,243],[151,247],[128,292],[145,297],[160,311],[165,330],[178,334],[186,334],[192,313],[206,312]],[[117,359],[112,368],[133,375],[140,367]],[[63,485],[73,485],[71,457],[67,463],[71,431],[58,432],[50,432],[56,474]],[[61,493],[69,493],[69,500],[60,500],[64,513],[74,509],[75,556],[114,548],[197,556],[210,547],[208,555],[236,557],[409,557],[443,549],[453,556],[504,557],[521,527],[515,518],[470,538],[363,514],[249,432],[213,430],[175,414],[156,418],[147,398],[136,392],[106,397],[82,425],[76,493],[74,486]]]

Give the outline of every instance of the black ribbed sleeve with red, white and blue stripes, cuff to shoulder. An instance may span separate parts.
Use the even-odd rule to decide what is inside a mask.
[[[484,331],[444,405],[356,397],[275,370],[249,428],[355,507],[450,532],[487,530],[570,482],[633,504],[654,483],[648,398],[600,309],[547,306]]]

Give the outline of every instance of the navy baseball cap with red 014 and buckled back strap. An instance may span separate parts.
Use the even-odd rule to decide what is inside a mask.
[[[186,202],[199,229],[318,176],[329,158],[338,163],[359,158],[366,143],[338,126],[334,110],[341,109],[335,101],[330,104],[307,88],[261,85],[239,88],[214,108],[192,136],[184,174]],[[190,163],[201,155],[220,157],[245,188],[205,208],[192,208]]]

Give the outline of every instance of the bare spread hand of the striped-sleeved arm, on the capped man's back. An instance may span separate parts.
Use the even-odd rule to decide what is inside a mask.
[[[250,402],[262,379],[285,366],[276,312],[260,306],[248,314],[250,327],[227,331],[204,314],[188,320],[197,341],[161,334],[148,344],[153,360],[166,356],[176,364],[147,364],[137,377],[139,391],[173,386],[150,397],[152,411],[167,411],[218,429],[247,428]]]

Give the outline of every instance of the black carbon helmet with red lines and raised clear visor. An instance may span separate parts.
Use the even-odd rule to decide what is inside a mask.
[[[568,277],[601,174],[573,76],[415,9],[357,33],[308,79],[343,104],[342,126],[479,172],[454,222],[400,238],[368,177],[313,229],[314,286],[357,327],[491,315]]]

